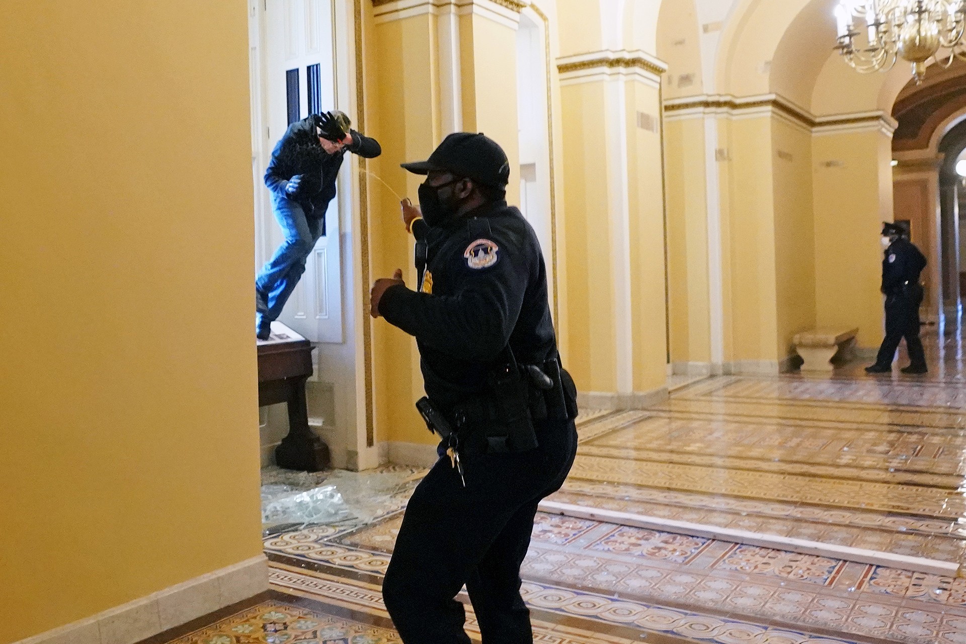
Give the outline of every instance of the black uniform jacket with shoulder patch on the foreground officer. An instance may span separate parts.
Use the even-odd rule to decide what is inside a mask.
[[[421,293],[386,289],[385,320],[415,336],[426,395],[447,413],[487,394],[487,375],[509,343],[518,363],[556,356],[540,243],[524,216],[499,201],[426,228]]]

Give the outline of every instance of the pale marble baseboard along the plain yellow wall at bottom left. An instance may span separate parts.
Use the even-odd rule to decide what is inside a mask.
[[[14,644],[134,644],[268,589],[260,554]]]

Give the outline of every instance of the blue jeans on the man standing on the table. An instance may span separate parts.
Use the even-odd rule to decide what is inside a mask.
[[[305,272],[305,261],[325,230],[325,219],[306,217],[301,206],[285,197],[272,194],[271,211],[285,233],[285,241],[255,278],[255,288],[265,294],[269,304],[267,311],[256,313],[255,322],[259,326],[281,315],[285,302]]]

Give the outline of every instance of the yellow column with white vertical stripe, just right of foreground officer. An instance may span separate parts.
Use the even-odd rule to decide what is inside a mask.
[[[661,74],[642,51],[557,61],[570,366],[591,406],[667,393]]]

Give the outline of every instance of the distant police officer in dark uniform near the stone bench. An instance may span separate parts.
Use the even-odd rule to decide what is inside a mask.
[[[925,353],[919,339],[919,306],[923,303],[920,273],[925,257],[909,240],[909,234],[892,223],[882,228],[882,293],[886,295],[886,337],[882,341],[875,364],[866,367],[869,374],[885,374],[893,370],[893,357],[902,338],[906,340],[910,364],[903,374],[924,374]]]

